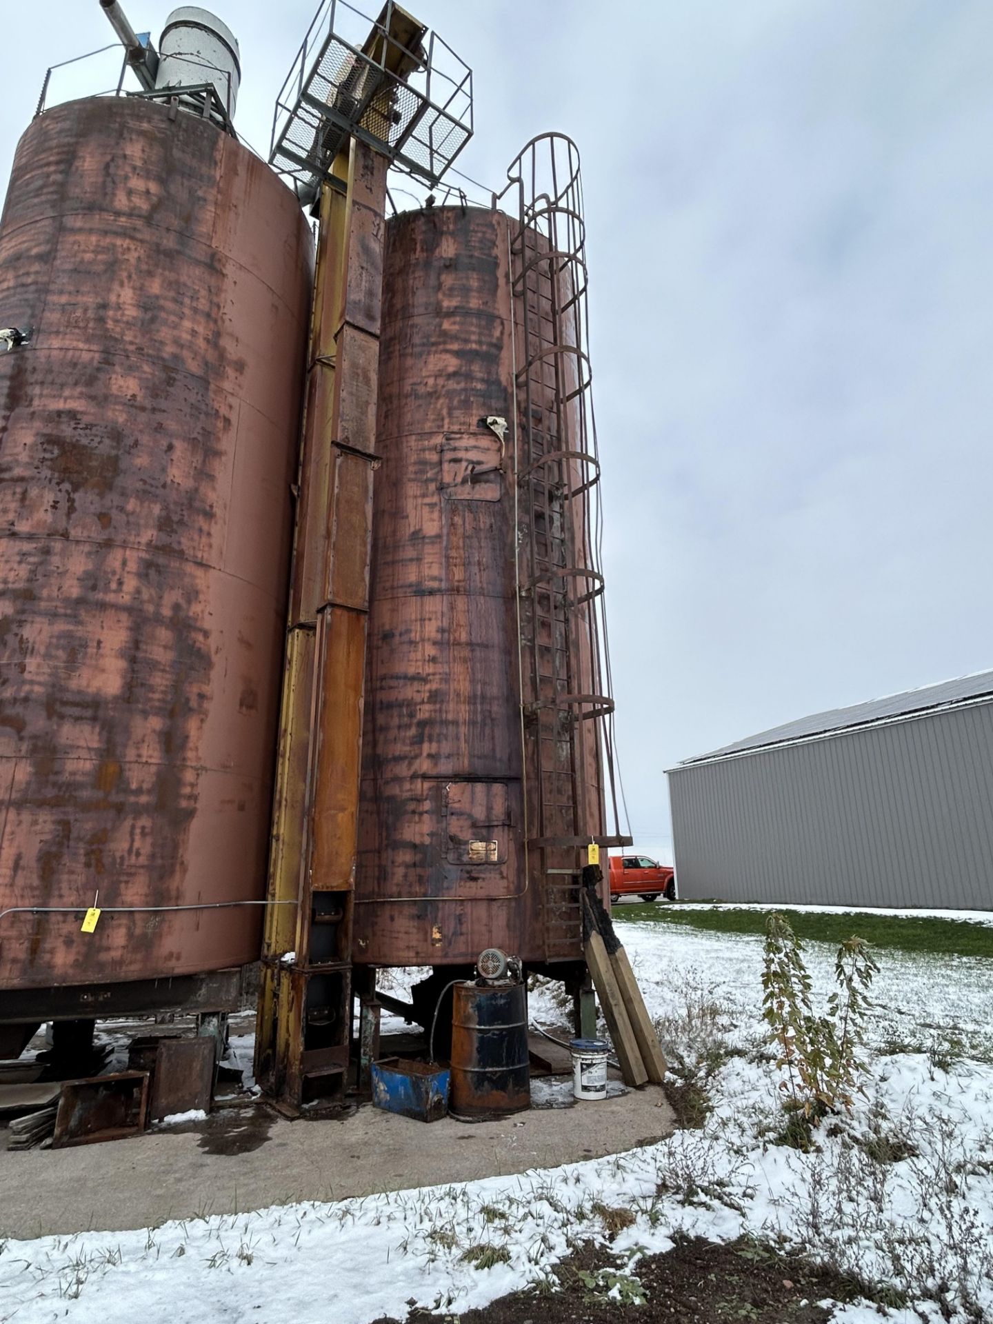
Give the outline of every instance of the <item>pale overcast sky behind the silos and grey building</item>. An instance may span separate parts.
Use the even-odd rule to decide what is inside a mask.
[[[214,7],[260,148],[315,7]],[[461,168],[583,154],[618,737],[669,858],[665,768],[993,667],[993,3],[409,7],[475,73]],[[113,34],[98,0],[0,24],[5,180],[48,62]],[[56,99],[115,57],[79,71]]]

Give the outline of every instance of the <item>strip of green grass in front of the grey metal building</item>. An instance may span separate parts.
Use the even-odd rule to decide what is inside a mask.
[[[894,915],[822,915],[793,911],[786,906],[771,906],[789,919],[794,933],[812,943],[838,943],[853,933],[865,937],[874,947],[890,947],[903,952],[935,952],[940,956],[985,956],[993,960],[993,925],[973,924],[968,920],[903,919]],[[764,911],[715,910],[702,906],[681,906],[679,902],[657,902],[651,906],[620,904],[613,907],[616,920],[634,920],[650,924],[683,924],[710,933],[764,933]]]

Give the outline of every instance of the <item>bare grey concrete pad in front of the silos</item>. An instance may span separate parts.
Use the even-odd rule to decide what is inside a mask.
[[[553,1078],[559,1079],[559,1078]],[[568,1091],[559,1091],[568,1094]],[[506,1121],[430,1125],[368,1104],[287,1121],[263,1106],[75,1149],[0,1149],[0,1235],[118,1231],[298,1200],[342,1200],[549,1168],[669,1135],[654,1086]],[[5,1136],[0,1132],[0,1145]]]

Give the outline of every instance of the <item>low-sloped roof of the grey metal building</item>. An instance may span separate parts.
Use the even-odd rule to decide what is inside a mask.
[[[800,718],[797,722],[786,722],[781,727],[760,731],[759,735],[747,736],[744,740],[736,740],[730,745],[722,745],[720,749],[698,755],[695,759],[685,759],[673,771],[678,772],[679,768],[686,768],[691,764],[710,763],[716,759],[730,759],[739,753],[749,753],[755,749],[765,749],[769,745],[798,744],[804,740],[817,739],[818,736],[847,731],[851,727],[895,722],[902,718],[951,708],[960,703],[969,703],[984,698],[993,699],[993,671],[977,671],[974,675],[963,675],[955,681],[941,681],[940,685],[928,685],[920,690],[888,694],[882,699],[870,699],[869,703],[855,703],[850,708],[829,708],[828,712],[816,712],[810,718]]]

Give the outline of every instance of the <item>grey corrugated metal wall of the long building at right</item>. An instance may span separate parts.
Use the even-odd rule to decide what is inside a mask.
[[[679,895],[993,908],[993,704],[669,773]]]

